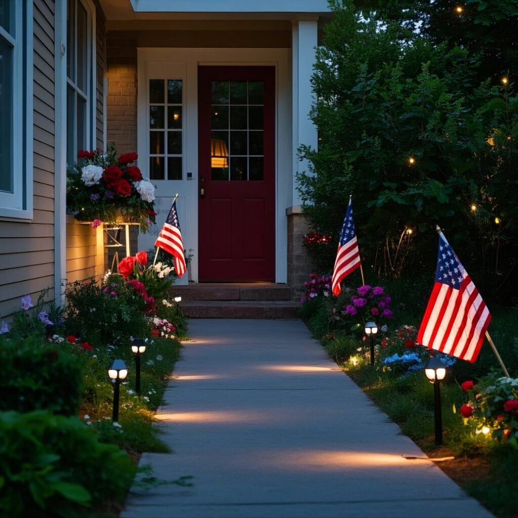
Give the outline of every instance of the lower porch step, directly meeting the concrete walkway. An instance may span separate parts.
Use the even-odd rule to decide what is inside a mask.
[[[180,305],[185,316],[198,319],[296,319],[300,307],[287,300],[182,300]]]

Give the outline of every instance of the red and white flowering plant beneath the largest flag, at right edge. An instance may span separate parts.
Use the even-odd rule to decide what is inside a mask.
[[[464,424],[477,434],[507,440],[518,449],[518,378],[486,377],[474,384],[468,380],[461,388],[469,395],[459,413]]]

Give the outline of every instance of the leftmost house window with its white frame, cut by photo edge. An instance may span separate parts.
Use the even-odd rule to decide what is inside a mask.
[[[27,159],[32,156],[32,113],[27,117],[33,94],[29,41],[32,0],[0,2],[0,215],[15,218],[32,217],[23,213],[32,210],[32,162]]]

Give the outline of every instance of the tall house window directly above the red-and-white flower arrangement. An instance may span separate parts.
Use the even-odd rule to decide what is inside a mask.
[[[83,0],[67,0],[67,150],[68,164],[77,159],[81,149],[92,149],[92,91],[95,56],[92,13]]]

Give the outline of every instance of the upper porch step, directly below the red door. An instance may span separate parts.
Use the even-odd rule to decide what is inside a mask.
[[[291,287],[271,282],[207,283],[172,286],[186,300],[291,300]]]

